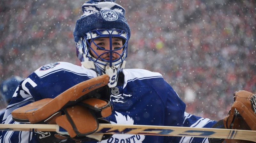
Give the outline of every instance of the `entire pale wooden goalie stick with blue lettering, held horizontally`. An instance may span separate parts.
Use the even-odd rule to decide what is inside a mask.
[[[68,134],[57,124],[0,124],[0,131],[49,131]],[[256,131],[175,126],[100,124],[94,134],[140,134],[156,136],[186,136],[256,141]]]

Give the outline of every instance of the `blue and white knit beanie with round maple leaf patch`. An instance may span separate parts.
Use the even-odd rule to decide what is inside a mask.
[[[116,0],[90,0],[83,4],[84,14],[76,21],[74,30],[75,42],[78,42],[84,33],[94,29],[122,29],[131,35],[131,30],[124,17],[125,10],[115,3]]]

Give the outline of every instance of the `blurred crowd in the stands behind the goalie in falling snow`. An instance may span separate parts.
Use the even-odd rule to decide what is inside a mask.
[[[0,82],[57,61],[80,64],[84,0],[0,1]],[[131,27],[125,68],[160,72],[186,111],[220,120],[233,93],[256,93],[255,0],[116,0]]]

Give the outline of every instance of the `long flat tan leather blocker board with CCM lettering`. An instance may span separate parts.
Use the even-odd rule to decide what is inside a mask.
[[[60,110],[69,107],[84,99],[92,97],[110,100],[110,89],[107,86],[108,75],[101,75],[81,82],[64,91],[54,99],[46,98],[12,111],[14,121],[31,124],[46,123],[47,118],[54,118]]]

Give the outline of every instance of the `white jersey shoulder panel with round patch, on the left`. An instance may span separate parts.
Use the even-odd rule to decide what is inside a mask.
[[[67,72],[73,72],[76,74],[81,74],[81,75],[86,74],[91,77],[97,77],[96,72],[86,69],[86,68],[84,68],[84,66],[78,66],[78,65],[71,64],[68,62],[56,62],[56,63],[52,63],[52,64],[47,64],[47,65],[44,65],[44,66],[38,68],[35,71],[35,73],[39,77],[43,77],[48,74],[52,74],[54,72],[59,72],[59,71],[67,71]]]

